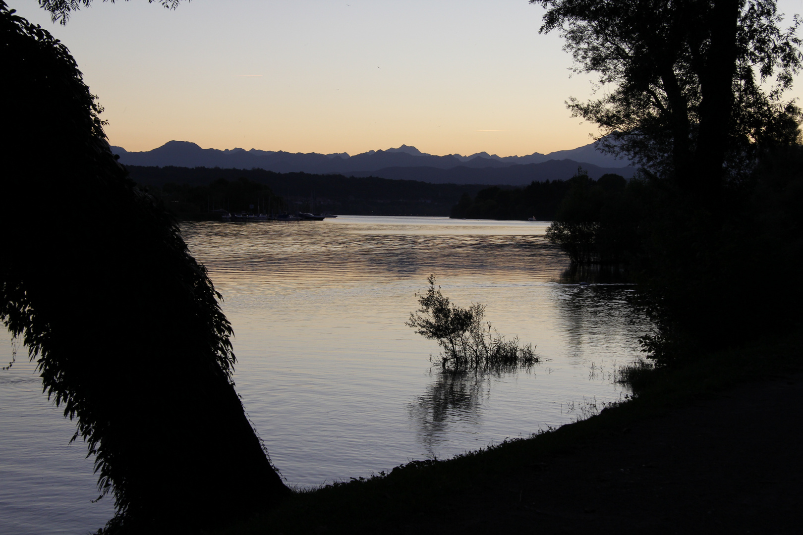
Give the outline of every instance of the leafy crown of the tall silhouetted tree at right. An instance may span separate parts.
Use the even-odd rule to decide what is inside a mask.
[[[801,68],[799,21],[781,30],[776,2],[530,2],[547,8],[540,31],[560,31],[576,71],[599,74],[605,96],[569,108],[609,152],[707,197],[761,148],[795,140],[800,110],[781,95]]]

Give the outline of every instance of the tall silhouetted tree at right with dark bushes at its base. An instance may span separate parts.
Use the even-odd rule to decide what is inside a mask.
[[[797,263],[801,247],[770,223],[799,224],[780,193],[801,198],[801,114],[782,100],[801,69],[797,17],[781,30],[772,0],[531,2],[547,8],[541,31],[559,30],[577,71],[605,87],[569,108],[643,166],[625,195],[603,199],[593,244],[629,261],[655,326],[646,350],[671,363],[799,325],[797,287],[747,283]]]

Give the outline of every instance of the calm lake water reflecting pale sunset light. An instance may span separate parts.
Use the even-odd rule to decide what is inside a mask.
[[[425,217],[182,227],[225,298],[247,412],[299,486],[528,436],[620,399],[612,373],[645,330],[630,288],[556,282],[567,262],[545,228]],[[430,273],[544,362],[479,377],[431,369],[437,344],[404,325]],[[3,351],[7,362],[10,343]],[[0,429],[0,533],[86,533],[112,516],[108,498],[90,502],[92,459],[67,445],[74,425],[24,349],[0,371]]]

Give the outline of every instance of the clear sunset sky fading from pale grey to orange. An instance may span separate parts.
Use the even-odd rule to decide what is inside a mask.
[[[570,71],[527,0],[95,0],[67,26],[35,0],[7,2],[70,49],[109,142],[128,151],[184,140],[524,156],[597,134],[565,107],[593,97],[593,75]],[[778,5],[803,12],[803,0]]]

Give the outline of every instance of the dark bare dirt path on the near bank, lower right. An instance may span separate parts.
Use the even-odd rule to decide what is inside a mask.
[[[801,400],[800,374],[741,385],[461,489],[397,529],[803,533]]]

